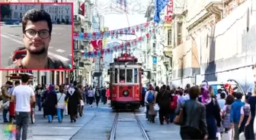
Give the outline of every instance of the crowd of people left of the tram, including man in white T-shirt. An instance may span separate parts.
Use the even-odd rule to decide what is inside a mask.
[[[16,124],[17,139],[27,139],[27,127],[32,117],[30,113],[36,106],[38,111],[43,111],[43,117],[47,118],[48,123],[52,123],[54,118],[62,123],[64,115],[69,115],[70,123],[75,123],[79,116],[83,116],[85,104],[90,104],[92,107],[95,102],[98,107],[99,101],[103,104],[110,102],[109,89],[82,86],[76,81],[69,85],[39,84],[34,87],[29,82],[29,76],[24,74],[21,76],[21,83],[16,81],[14,86],[12,85],[13,83],[8,81],[2,86],[0,101],[2,101],[3,121]],[[22,136],[21,129],[23,129]]]

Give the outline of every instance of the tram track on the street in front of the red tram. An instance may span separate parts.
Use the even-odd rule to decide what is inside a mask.
[[[125,136],[126,138],[130,138],[130,136],[137,134],[136,135],[136,139],[139,139],[139,137],[141,137],[142,140],[150,140],[149,139],[149,135],[146,133],[146,130],[144,129],[144,127],[142,126],[142,123],[139,120],[139,117],[136,115],[135,112],[133,112],[133,114],[128,114],[130,116],[133,115],[133,117],[120,117],[120,115],[122,115],[122,113],[117,112],[115,118],[114,118],[114,123],[110,132],[110,137],[109,140],[120,140],[123,138],[120,138],[120,135]],[[122,124],[124,123],[124,124]],[[126,131],[118,131],[118,127],[121,127],[122,125],[125,125],[125,123],[130,123],[131,126],[133,127],[128,127],[126,129],[133,129],[133,131],[135,131],[134,133],[129,133]],[[135,123],[136,125],[134,125],[133,123]],[[118,126],[120,125],[120,126]],[[140,134],[142,135],[138,135],[139,132],[136,132],[136,129],[139,128],[139,131],[141,132]],[[129,130],[128,130],[129,131]],[[119,136],[118,136],[119,135]],[[133,138],[130,138],[133,139]]]

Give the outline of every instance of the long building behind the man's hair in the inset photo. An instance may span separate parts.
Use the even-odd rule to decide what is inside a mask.
[[[17,20],[21,21],[24,14],[33,8],[43,8],[53,21],[56,23],[58,20],[67,20],[69,23],[72,20],[72,5],[10,5],[11,14],[3,20]]]

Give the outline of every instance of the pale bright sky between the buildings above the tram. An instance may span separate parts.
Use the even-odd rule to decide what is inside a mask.
[[[109,30],[118,30],[118,29],[129,27],[129,26],[136,26],[140,23],[146,23],[146,17],[145,17],[146,8],[148,7],[149,1],[151,0],[126,0],[126,1],[128,3],[128,14],[124,12],[123,14],[120,13],[120,8],[117,7],[117,0],[94,0],[94,3],[98,5],[97,8],[98,8],[99,14],[104,16],[104,26],[107,26]],[[110,9],[113,9],[113,8],[114,10],[110,11]],[[134,39],[134,36],[126,36],[126,38]],[[111,40],[108,40],[107,43],[110,43],[110,42]],[[134,53],[134,54],[137,54],[137,53]],[[105,62],[113,61],[113,57],[114,57],[113,55],[114,54],[105,54],[104,61]],[[105,67],[107,66],[105,65]]]

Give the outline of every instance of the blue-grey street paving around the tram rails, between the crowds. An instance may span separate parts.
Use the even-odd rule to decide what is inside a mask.
[[[53,123],[48,123],[47,119],[43,118],[43,112],[37,111],[36,123],[29,125],[28,140],[108,140],[116,112],[107,105],[100,104],[99,107],[86,105],[84,114],[83,117],[78,117],[76,123],[70,123],[69,116],[65,116],[62,123],[58,123],[56,119],[53,120]],[[129,112],[119,114],[116,140],[143,139],[136,123],[131,120],[134,119],[132,114]],[[165,123],[161,126],[158,117],[156,117],[155,123],[149,123],[146,120],[146,114],[143,113],[143,108],[137,110],[136,115],[150,140],[165,140],[166,138],[181,140],[179,126],[172,123]],[[2,123],[2,111],[0,119],[0,140],[7,140],[8,138],[2,138],[1,134],[7,127]],[[226,134],[222,140],[228,140]]]

